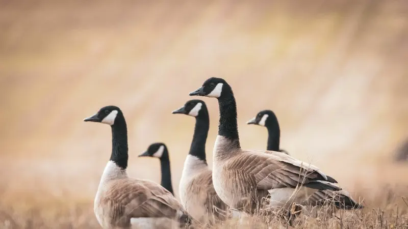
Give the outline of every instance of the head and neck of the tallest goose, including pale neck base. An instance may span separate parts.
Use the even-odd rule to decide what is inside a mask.
[[[209,78],[202,87],[190,93],[190,96],[206,96],[218,99],[220,119],[216,141],[219,152],[233,152],[241,149],[237,124],[237,103],[230,85],[221,78]],[[222,156],[222,155],[219,155]]]

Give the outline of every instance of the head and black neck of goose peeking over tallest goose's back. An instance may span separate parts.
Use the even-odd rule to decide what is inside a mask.
[[[276,115],[272,110],[262,110],[256,117],[249,120],[246,124],[264,126],[268,130],[267,150],[279,151],[279,141],[281,139],[281,129]]]

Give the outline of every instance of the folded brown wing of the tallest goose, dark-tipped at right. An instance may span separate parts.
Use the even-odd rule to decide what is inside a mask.
[[[317,167],[274,151],[243,151],[228,160],[224,169],[250,178],[257,189],[265,190],[294,188],[299,182],[327,181],[327,176]]]

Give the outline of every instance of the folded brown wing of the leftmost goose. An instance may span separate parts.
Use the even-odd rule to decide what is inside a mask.
[[[129,218],[173,218],[182,209],[174,196],[162,186],[147,180],[119,179],[110,182],[100,199],[101,206],[109,206],[114,214]]]

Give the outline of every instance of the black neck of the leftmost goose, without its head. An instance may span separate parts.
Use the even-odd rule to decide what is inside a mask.
[[[111,161],[122,169],[127,167],[127,127],[123,115],[119,115],[115,119],[112,127],[112,154]]]

